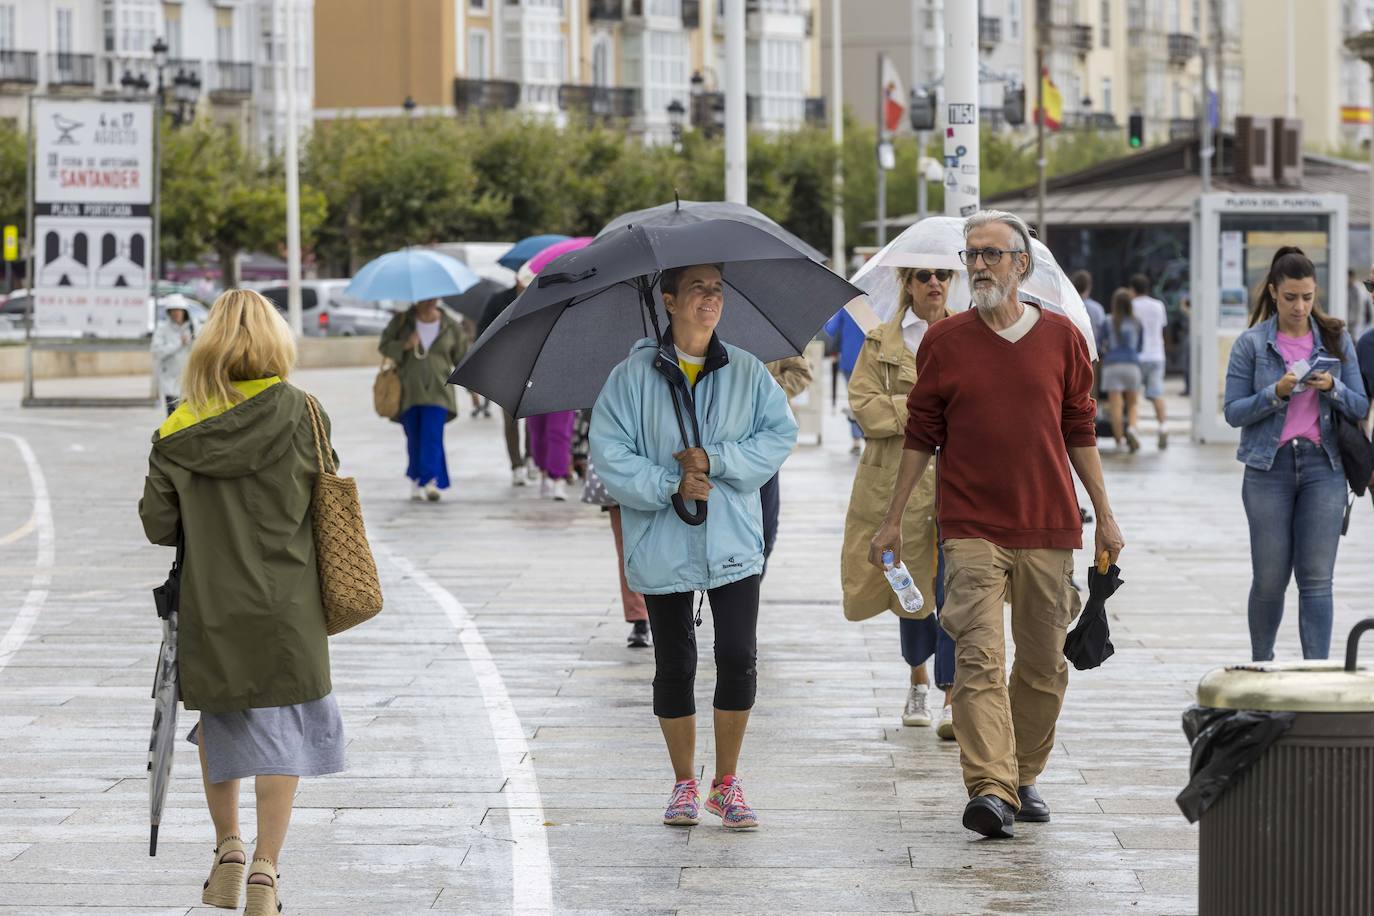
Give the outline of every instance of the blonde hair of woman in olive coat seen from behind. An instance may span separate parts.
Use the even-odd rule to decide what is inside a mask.
[[[276,306],[253,290],[225,290],[191,347],[181,401],[196,413],[234,407],[243,400],[234,382],[284,379],[293,365],[295,338]]]

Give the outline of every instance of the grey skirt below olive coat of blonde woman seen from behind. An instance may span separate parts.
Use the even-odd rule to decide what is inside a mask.
[[[205,742],[212,783],[344,769],[344,718],[333,694],[294,706],[202,713],[185,739]]]

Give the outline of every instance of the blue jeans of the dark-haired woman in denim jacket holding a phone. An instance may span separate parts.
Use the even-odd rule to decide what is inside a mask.
[[[1293,439],[1279,446],[1268,471],[1245,468],[1241,488],[1250,523],[1250,654],[1274,659],[1283,621],[1283,592],[1297,574],[1297,629],[1303,658],[1331,651],[1331,571],[1345,516],[1345,471],[1320,445]]]

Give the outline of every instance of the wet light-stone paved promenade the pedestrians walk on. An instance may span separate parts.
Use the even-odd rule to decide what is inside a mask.
[[[401,433],[371,415],[371,374],[298,382],[322,397],[344,472],[359,478],[387,607],[333,644],[349,772],[302,781],[282,862],[287,913],[1195,909],[1197,834],[1172,801],[1187,768],[1179,714],[1198,677],[1249,644],[1231,449],[1175,435],[1160,453],[1147,424],[1142,453],[1105,456],[1128,540],[1110,608],[1117,655],[1073,674],[1041,780],[1054,821],[988,843],[959,827],[956,747],[900,726],[896,621],[842,619],[855,459],[827,415],[824,446],[783,472],[742,762],[764,827],[736,835],[709,816],[658,824],[672,776],[650,711],[653,658],[624,647],[606,518],[541,503],[536,488],[513,493],[500,420],[466,415],[449,427],[456,490],[409,503]],[[148,589],[170,551],[146,545],[135,509],[157,413],[16,402],[16,386],[0,386],[0,913],[223,912],[195,905],[214,838],[190,744],[159,856],[147,856]],[[25,445],[51,501],[51,567]],[[1371,542],[1364,503],[1337,566],[1340,644],[1369,612],[1358,602],[1374,593]],[[1297,654],[1294,617],[1290,597],[1283,658]],[[702,710],[712,685],[703,661]],[[698,746],[709,775],[709,732]]]

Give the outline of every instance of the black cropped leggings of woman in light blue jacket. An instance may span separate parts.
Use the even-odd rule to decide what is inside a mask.
[[[758,581],[746,580],[706,592],[716,625],[716,700],[725,711],[753,709],[758,689]],[[697,714],[695,592],[646,595],[654,633],[654,714]]]

